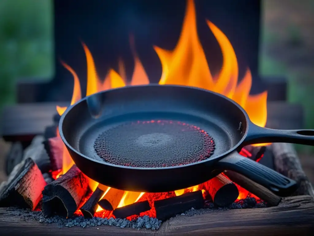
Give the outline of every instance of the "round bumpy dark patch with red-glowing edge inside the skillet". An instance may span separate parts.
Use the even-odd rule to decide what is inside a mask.
[[[180,166],[209,158],[215,149],[201,128],[180,121],[137,121],[112,127],[94,148],[103,160],[120,166]]]

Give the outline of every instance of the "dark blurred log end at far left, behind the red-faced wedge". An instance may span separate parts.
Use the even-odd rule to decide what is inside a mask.
[[[8,154],[6,155],[6,174],[9,175],[14,166],[19,164],[23,160],[23,145],[21,142],[12,143]]]

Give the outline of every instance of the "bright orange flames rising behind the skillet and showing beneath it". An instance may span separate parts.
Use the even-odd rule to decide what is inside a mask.
[[[267,121],[267,92],[265,91],[257,95],[249,95],[252,86],[252,75],[249,68],[246,70],[246,74],[241,79],[240,83],[238,83],[238,61],[230,41],[216,25],[208,20],[206,20],[206,23],[221,48],[223,62],[220,72],[217,75],[212,75],[210,72],[203,47],[198,37],[194,1],[187,0],[186,13],[176,47],[171,51],[153,46],[162,65],[162,74],[159,84],[199,87],[223,94],[240,104],[246,110],[253,123],[264,127]],[[130,44],[134,59],[134,70],[131,81],[128,83],[125,66],[121,58],[118,61],[119,73],[110,69],[105,79],[101,81],[98,77],[92,54],[89,51],[89,48],[82,43],[87,63],[86,96],[126,85],[149,84],[147,73],[136,53],[133,36],[130,37]],[[71,67],[65,63],[62,63],[62,65],[71,72],[74,78],[74,89],[71,100],[72,105],[81,98],[79,80]],[[62,115],[66,109],[66,107],[57,106],[57,112],[60,115]],[[73,160],[70,158],[66,148],[64,148],[63,173],[65,173],[72,165]],[[89,186],[91,189],[94,190],[97,185],[98,183],[90,180]],[[196,185],[190,188],[176,190],[175,193],[176,195],[181,195],[185,192],[196,191],[199,187],[199,185]],[[104,196],[109,189],[110,188],[108,187]],[[143,194],[144,193],[125,191],[120,200],[119,207],[138,201]],[[245,194],[246,192],[243,192],[242,195],[244,196]],[[99,207],[97,211],[100,210],[101,208]]]

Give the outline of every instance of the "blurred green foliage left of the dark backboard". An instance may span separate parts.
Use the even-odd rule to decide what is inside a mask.
[[[14,102],[17,79],[51,77],[51,4],[51,0],[0,0],[0,107]]]

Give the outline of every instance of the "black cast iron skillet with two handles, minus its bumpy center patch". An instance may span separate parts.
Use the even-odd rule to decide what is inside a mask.
[[[123,122],[150,119],[179,120],[201,127],[215,141],[214,154],[191,164],[157,168],[113,165],[96,154],[95,140],[106,129]],[[154,84],[111,89],[81,99],[62,115],[59,132],[84,174],[106,186],[138,192],[187,188],[203,183],[223,170],[233,170],[279,196],[290,195],[296,189],[293,180],[242,157],[237,151],[253,143],[314,145],[314,130],[274,130],[256,126],[240,105],[220,94],[192,87]]]

